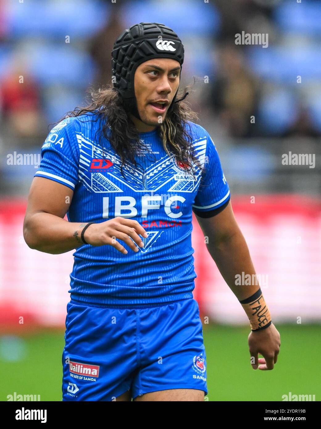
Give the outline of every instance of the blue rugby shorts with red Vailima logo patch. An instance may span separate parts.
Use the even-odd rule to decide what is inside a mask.
[[[63,401],[115,401],[167,389],[207,394],[195,299],[148,308],[67,304]]]

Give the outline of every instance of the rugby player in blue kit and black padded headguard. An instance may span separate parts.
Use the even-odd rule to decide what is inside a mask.
[[[183,61],[172,29],[133,25],[114,44],[112,85],[42,145],[24,239],[50,254],[76,249],[63,401],[204,401],[192,211],[250,321],[253,369],[276,363],[280,335],[260,287],[235,284],[255,271],[218,152],[188,93],[176,98]]]

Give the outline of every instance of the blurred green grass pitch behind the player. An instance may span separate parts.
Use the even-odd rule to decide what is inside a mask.
[[[247,344],[248,327],[204,325],[209,401],[282,401],[282,395],[289,392],[315,395],[320,401],[317,379],[321,326],[276,327],[281,334],[278,362],[272,371],[254,371]],[[18,350],[16,345],[15,353],[10,353],[3,349],[8,341],[0,338],[0,401],[14,392],[40,395],[41,401],[61,401],[64,331],[45,330],[17,340]],[[15,360],[9,361],[12,356]]]

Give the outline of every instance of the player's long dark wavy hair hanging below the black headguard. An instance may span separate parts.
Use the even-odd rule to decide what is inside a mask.
[[[179,91],[176,99],[181,98],[186,90],[191,92],[191,86],[188,85],[184,93]],[[100,126],[97,130],[100,132],[99,145],[103,149],[103,139],[109,140],[110,145],[121,158],[121,174],[124,175],[124,164],[130,161],[136,167],[135,155],[147,147],[139,141],[139,133],[124,108],[123,99],[112,84],[98,90],[89,88],[88,92],[90,94],[88,106],[76,107],[73,111],[67,112],[64,118],[92,114],[93,121],[99,120]],[[79,120],[81,119],[79,118]],[[193,112],[186,102],[180,101],[171,106],[164,122],[157,129],[167,154],[174,154],[180,168],[193,174],[195,178],[193,162],[200,168],[202,166],[195,157],[194,147],[191,145],[191,126],[188,121],[193,120],[198,120],[197,113]],[[95,139],[96,137],[97,133]]]

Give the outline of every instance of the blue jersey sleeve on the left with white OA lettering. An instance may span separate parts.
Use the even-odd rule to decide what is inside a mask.
[[[66,118],[52,128],[42,145],[42,160],[34,177],[45,177],[75,189],[79,181],[79,127],[75,118]]]

